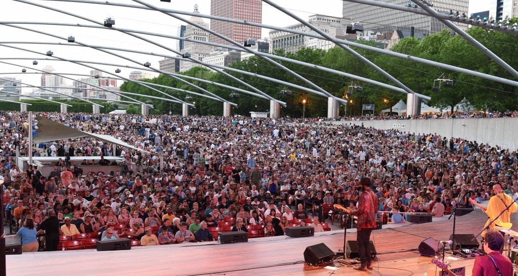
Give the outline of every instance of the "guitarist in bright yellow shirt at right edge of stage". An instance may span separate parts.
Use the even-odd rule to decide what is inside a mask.
[[[471,204],[480,207],[482,211],[484,211],[487,214],[487,216],[489,216],[489,219],[487,219],[484,228],[487,227],[488,224],[491,221],[493,221],[504,209],[506,209],[507,206],[512,204],[512,206],[509,207],[507,211],[503,212],[503,214],[500,217],[498,217],[498,219],[492,225],[489,225],[490,229],[493,229],[495,225],[509,225],[511,223],[511,214],[514,213],[516,209],[518,209],[518,205],[516,204],[516,202],[513,202],[513,198],[507,195],[506,193],[503,193],[500,184],[493,185],[493,192],[495,193],[495,195],[490,198],[489,203],[487,204],[487,208],[484,208],[473,199],[469,200]],[[482,237],[485,237],[485,231],[484,233],[482,233]]]

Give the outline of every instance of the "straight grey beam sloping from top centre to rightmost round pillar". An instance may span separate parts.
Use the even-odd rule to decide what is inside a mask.
[[[135,1],[135,0],[134,0]],[[292,17],[293,19],[297,20],[298,22],[304,24],[305,26],[309,27],[311,30],[313,30],[314,32],[316,32],[317,34],[320,34],[321,36],[323,36],[324,38],[326,38],[327,40],[329,41],[333,41],[334,43],[336,43],[336,45],[338,45],[340,48],[342,48],[343,50],[346,50],[348,53],[350,53],[351,55],[355,56],[357,59],[359,59],[360,61],[362,61],[363,63],[367,64],[368,66],[370,66],[372,69],[375,69],[376,71],[378,71],[381,75],[383,75],[385,78],[389,79],[390,81],[392,81],[393,83],[397,84],[400,88],[404,89],[407,93],[410,93],[410,94],[415,94],[415,92],[413,92],[410,88],[408,88],[408,86],[406,86],[405,84],[403,84],[402,82],[400,82],[398,79],[394,78],[392,75],[390,75],[389,73],[387,73],[385,70],[381,69],[381,67],[379,67],[378,65],[374,64],[373,62],[369,61],[367,59],[367,57],[359,54],[358,52],[354,51],[353,49],[349,48],[348,46],[345,46],[345,45],[342,45],[340,43],[337,43],[337,41],[335,40],[335,38],[331,37],[330,35],[322,32],[319,28],[315,27],[314,25],[304,21],[303,19],[301,19],[300,17],[296,16],[293,12],[290,12],[289,10],[286,10],[285,8],[275,4],[274,2],[270,1],[270,0],[263,0],[263,2],[266,2],[268,3],[270,6],[284,12],[285,14],[287,14],[288,16]]]

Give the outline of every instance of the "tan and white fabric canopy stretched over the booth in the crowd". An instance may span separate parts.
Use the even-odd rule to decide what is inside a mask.
[[[60,124],[58,122],[54,122],[52,120],[49,120],[45,117],[38,116],[36,117],[36,120],[38,120],[38,132],[36,137],[33,138],[34,143],[42,143],[42,142],[49,142],[49,141],[55,141],[55,140],[63,140],[63,139],[69,139],[69,138],[79,138],[79,137],[92,137],[97,140],[101,140],[103,142],[107,142],[110,144],[118,144],[121,147],[134,149],[137,151],[146,152],[145,150],[133,147],[131,144],[128,144],[124,141],[121,141],[117,138],[114,138],[109,135],[102,135],[102,134],[94,134],[94,133],[88,133],[83,132],[81,130],[68,127],[66,125]]]

